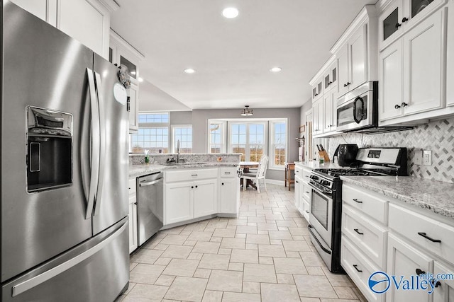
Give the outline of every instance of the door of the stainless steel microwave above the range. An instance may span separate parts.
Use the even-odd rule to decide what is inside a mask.
[[[365,127],[372,127],[372,91],[355,96],[346,103],[337,106],[337,130],[350,131]],[[375,125],[376,126],[376,125]]]

